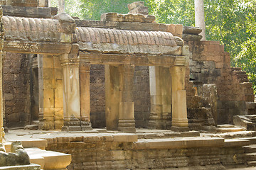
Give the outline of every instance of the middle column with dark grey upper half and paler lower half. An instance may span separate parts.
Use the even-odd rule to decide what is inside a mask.
[[[119,66],[119,121],[118,130],[122,132],[135,132],[134,120],[134,65]]]

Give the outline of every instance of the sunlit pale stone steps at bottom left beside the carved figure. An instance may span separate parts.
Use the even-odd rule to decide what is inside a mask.
[[[11,152],[11,142],[4,144],[6,152]],[[21,140],[32,164],[39,164],[41,169],[65,170],[71,163],[71,155],[45,150],[47,140]]]

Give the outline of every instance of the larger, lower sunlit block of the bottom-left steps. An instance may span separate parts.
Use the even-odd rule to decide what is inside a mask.
[[[71,163],[71,154],[46,151],[36,147],[26,148],[31,163],[39,164],[41,169],[65,169]]]

